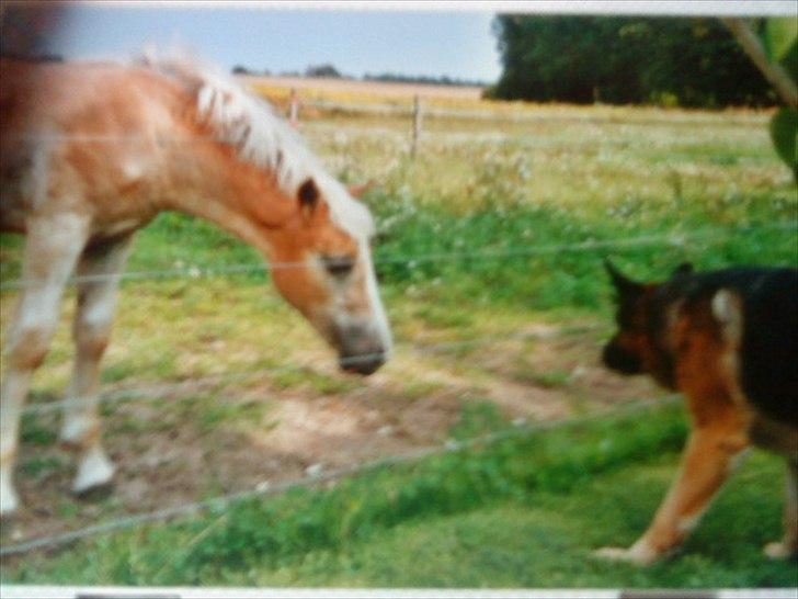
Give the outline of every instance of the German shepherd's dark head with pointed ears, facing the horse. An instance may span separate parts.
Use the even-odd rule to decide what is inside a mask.
[[[662,343],[668,308],[658,293],[661,284],[638,283],[609,261],[605,260],[604,265],[616,292],[618,331],[604,346],[602,361],[622,374],[648,373],[670,386],[672,364]],[[692,271],[692,264],[684,263],[674,271],[673,278]]]

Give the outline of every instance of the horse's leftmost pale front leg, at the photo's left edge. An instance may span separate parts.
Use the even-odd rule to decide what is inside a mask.
[[[89,235],[89,219],[72,213],[26,223],[23,287],[4,339],[0,388],[0,516],[19,507],[12,482],[22,409],[33,372],[42,364],[58,325],[67,279]]]

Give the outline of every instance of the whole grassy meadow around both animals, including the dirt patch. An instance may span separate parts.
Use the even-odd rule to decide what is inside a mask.
[[[464,102],[456,108],[470,108]],[[69,497],[57,420],[30,415],[19,474],[27,509],[4,527],[3,544],[509,434],[9,556],[3,581],[798,584],[795,564],[760,554],[779,534],[784,484],[779,461],[764,453],[672,561],[638,570],[590,557],[646,527],[686,430],[669,402],[616,414],[663,392],[598,362],[612,334],[602,260],[639,279],[665,278],[686,260],[796,265],[798,197],[771,147],[768,115],[472,105],[505,118],[428,115],[414,159],[404,117],[338,110],[301,122],[332,172],[376,182],[364,201],[377,219],[375,261],[397,351],[372,377],[340,374],[266,272],[226,272],[260,263],[250,248],[175,214],[142,230],[128,271],[162,275],[123,284],[103,372],[118,399],[104,406],[116,489],[93,501]],[[19,275],[20,251],[20,239],[0,238],[3,282]],[[2,290],[3,323],[14,295]],[[33,405],[62,394],[71,310]]]

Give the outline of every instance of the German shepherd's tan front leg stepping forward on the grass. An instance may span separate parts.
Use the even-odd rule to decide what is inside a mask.
[[[629,549],[603,547],[595,555],[649,565],[675,550],[698,523],[729,476],[748,437],[737,426],[708,426],[693,431],[676,481],[646,533]]]

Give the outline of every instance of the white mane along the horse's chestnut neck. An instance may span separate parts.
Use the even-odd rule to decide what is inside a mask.
[[[327,197],[331,215],[339,225],[358,237],[372,233],[368,211],[352,200],[265,100],[248,92],[217,67],[182,50],[173,50],[166,56],[156,56],[150,50],[138,63],[181,81],[192,90],[200,118],[217,139],[235,147],[242,160],[267,169],[285,192],[296,193],[299,185],[312,178]]]

